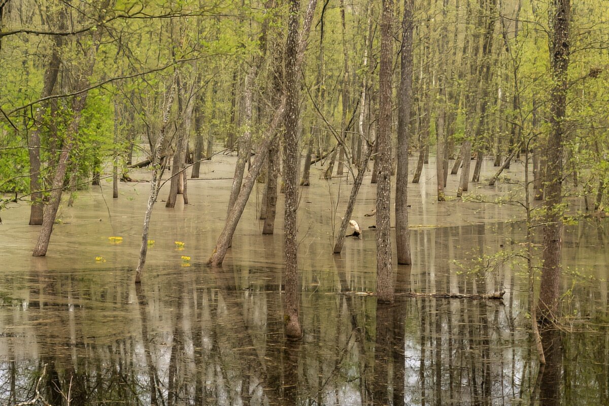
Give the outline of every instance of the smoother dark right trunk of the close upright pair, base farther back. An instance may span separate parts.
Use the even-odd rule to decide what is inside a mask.
[[[404,0],[402,20],[401,78],[398,100],[398,168],[395,184],[395,240],[398,264],[412,264],[408,235],[408,137],[412,104],[412,11],[414,0]]]

